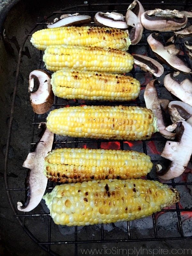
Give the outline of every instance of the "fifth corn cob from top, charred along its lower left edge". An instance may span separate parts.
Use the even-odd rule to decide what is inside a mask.
[[[57,148],[45,157],[44,174],[55,182],[130,179],[147,175],[153,164],[144,153],[129,150]]]

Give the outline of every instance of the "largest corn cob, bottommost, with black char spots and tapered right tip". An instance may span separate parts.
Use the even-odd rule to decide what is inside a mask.
[[[158,181],[93,180],[57,185],[44,197],[56,224],[84,226],[143,218],[179,201]]]

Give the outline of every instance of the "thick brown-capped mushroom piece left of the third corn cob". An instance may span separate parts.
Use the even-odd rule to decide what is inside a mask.
[[[36,114],[46,113],[53,104],[54,94],[51,86],[51,76],[41,70],[33,70],[29,74],[30,102]]]

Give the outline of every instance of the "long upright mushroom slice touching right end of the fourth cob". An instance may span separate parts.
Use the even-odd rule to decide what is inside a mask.
[[[159,132],[167,139],[174,139],[175,133],[174,132],[168,132],[165,130],[165,124],[164,124],[164,112],[169,104],[169,100],[166,99],[159,99],[157,96],[157,91],[155,88],[155,83],[157,83],[157,80],[151,80],[145,88],[144,91],[144,100],[146,107],[151,109],[152,112],[155,114],[157,118],[157,127],[159,129]]]

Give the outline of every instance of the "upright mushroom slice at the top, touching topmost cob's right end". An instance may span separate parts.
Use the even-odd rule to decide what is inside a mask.
[[[125,20],[128,26],[131,28],[129,31],[129,38],[131,44],[137,44],[141,40],[143,34],[143,25],[141,24],[141,14],[144,12],[142,4],[138,0],[134,0],[132,4],[129,5]]]

